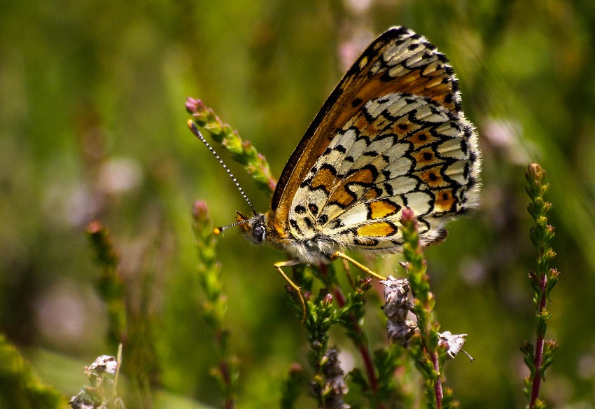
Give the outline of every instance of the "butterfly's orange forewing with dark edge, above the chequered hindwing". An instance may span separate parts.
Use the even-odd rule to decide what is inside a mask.
[[[286,235],[295,192],[337,130],[372,98],[415,92],[460,111],[458,88],[444,55],[422,36],[393,27],[368,46],[326,99],[281,172],[272,197],[277,234]]]

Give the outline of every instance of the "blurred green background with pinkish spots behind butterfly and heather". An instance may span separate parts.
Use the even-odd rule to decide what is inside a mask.
[[[221,225],[248,207],[188,132],[186,97],[215,109],[279,176],[346,68],[392,25],[423,34],[449,57],[483,151],[481,207],[426,251],[437,319],[468,333],[465,349],[476,358],[447,363],[447,385],[462,408],[525,405],[519,347],[535,338],[527,278],[535,251],[524,172],[538,160],[554,203],[552,267],[562,272],[548,328],[560,347],[542,396],[550,408],[595,407],[588,0],[2,2],[0,331],[45,382],[72,396],[85,383],[84,365],[116,353],[106,350],[99,268],[85,239],[98,219],[120,252],[132,310],[151,317],[153,390],[189,407],[219,404],[209,377],[212,334],[193,281],[191,210],[204,200]],[[267,209],[269,198],[219,150],[255,207]],[[276,407],[290,364],[307,366],[306,334],[272,269],[284,255],[232,230],[218,254],[230,349],[240,360],[238,407]],[[402,275],[398,260],[377,267]],[[379,300],[370,303],[379,316]],[[334,336],[345,361],[359,365],[344,334]],[[381,325],[369,336],[372,347],[386,342]]]

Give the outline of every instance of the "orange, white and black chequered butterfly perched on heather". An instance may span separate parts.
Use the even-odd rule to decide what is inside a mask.
[[[240,188],[253,214],[238,212],[231,226],[292,257],[274,267],[297,291],[305,317],[283,267],[353,261],[345,250],[401,251],[406,207],[421,245],[442,240],[445,222],[477,206],[480,167],[477,132],[447,57],[411,29],[393,27],[326,99],[283,168],[269,211],[255,212]]]

